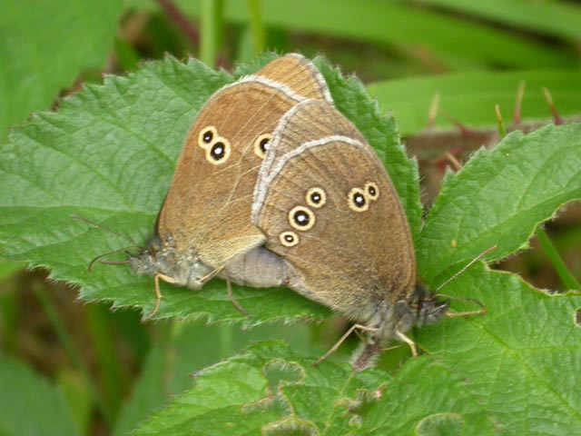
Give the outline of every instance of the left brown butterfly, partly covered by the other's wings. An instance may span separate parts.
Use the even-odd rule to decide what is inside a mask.
[[[261,245],[252,192],[281,117],[306,99],[332,103],[320,72],[287,54],[212,95],[192,124],[162,204],[152,243],[130,259],[159,280],[200,289],[220,273],[254,287],[288,280],[286,263]]]

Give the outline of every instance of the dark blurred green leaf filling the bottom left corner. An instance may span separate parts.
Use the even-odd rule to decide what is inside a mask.
[[[79,434],[62,393],[22,363],[0,358],[0,386],[3,436]]]

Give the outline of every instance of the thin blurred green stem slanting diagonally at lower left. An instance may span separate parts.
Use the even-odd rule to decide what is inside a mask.
[[[48,320],[51,322],[51,325],[54,328],[54,332],[58,337],[59,341],[63,344],[64,352],[66,352],[67,356],[73,362],[73,366],[81,377],[83,377],[84,384],[89,390],[91,397],[93,398],[94,404],[96,405],[97,409],[103,415],[103,420],[107,422],[107,424],[111,425],[113,423],[113,415],[111,411],[106,407],[103,399],[99,395],[99,391],[97,390],[96,386],[94,385],[93,379],[89,375],[89,371],[84,366],[83,359],[81,355],[76,351],[74,347],[73,340],[66,332],[66,328],[64,327],[64,323],[61,321],[56,309],[54,308],[53,302],[46,296],[46,290],[41,289],[41,286],[38,284],[34,284],[33,286],[34,295],[40,302],[41,306],[43,307],[44,313],[48,317]]]

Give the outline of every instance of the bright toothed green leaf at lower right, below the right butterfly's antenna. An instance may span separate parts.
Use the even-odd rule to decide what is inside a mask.
[[[581,292],[550,295],[515,274],[483,266],[458,276],[449,288],[483,302],[488,312],[419,331],[429,355],[501,432],[575,433],[581,424],[581,328],[575,322]]]

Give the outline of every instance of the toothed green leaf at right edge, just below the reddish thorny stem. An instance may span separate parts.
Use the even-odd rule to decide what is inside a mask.
[[[527,248],[539,223],[581,199],[579,150],[581,124],[547,125],[508,134],[448,173],[416,246],[424,282],[449,277],[448,268],[495,245],[488,260]]]

